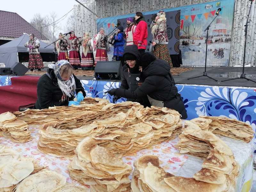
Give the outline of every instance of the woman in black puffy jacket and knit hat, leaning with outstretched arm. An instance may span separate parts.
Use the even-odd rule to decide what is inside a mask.
[[[180,113],[182,119],[186,119],[187,111],[172,80],[170,65],[164,60],[156,59],[150,52],[140,55],[138,63],[145,78],[143,84],[134,91],[117,88],[109,90],[108,93],[130,99],[148,96],[152,106],[174,109]]]

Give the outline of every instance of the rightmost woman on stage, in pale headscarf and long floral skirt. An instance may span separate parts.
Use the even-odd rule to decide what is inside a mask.
[[[151,33],[153,35],[153,54],[157,59],[165,60],[172,68],[172,60],[168,50],[167,26],[164,11],[159,11],[157,13],[157,17],[155,21],[152,21],[150,28],[152,29]]]

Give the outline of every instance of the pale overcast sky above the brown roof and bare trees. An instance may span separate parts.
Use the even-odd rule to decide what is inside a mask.
[[[75,0],[1,0],[0,10],[16,12],[29,22],[35,13],[40,13],[42,16],[45,16],[53,11],[58,14],[59,19],[73,9],[76,4],[78,3]],[[72,12],[60,23],[64,25],[71,14]],[[67,33],[67,31],[62,30],[60,32]]]

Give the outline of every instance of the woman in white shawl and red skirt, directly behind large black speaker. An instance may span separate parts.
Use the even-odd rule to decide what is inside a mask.
[[[104,33],[104,28],[101,27],[100,28],[100,32],[95,35],[92,38],[92,42],[93,42],[93,51],[96,51],[96,55],[95,55],[95,66],[97,64],[97,61],[108,61],[108,54],[106,52],[106,46],[108,48],[108,42],[105,42],[104,37],[105,37],[105,33]]]

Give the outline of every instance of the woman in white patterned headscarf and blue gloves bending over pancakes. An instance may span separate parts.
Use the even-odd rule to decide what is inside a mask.
[[[77,94],[77,101],[73,101]],[[67,60],[49,65],[47,73],[37,82],[35,109],[54,106],[79,105],[86,93],[79,79],[73,74],[73,67]]]

